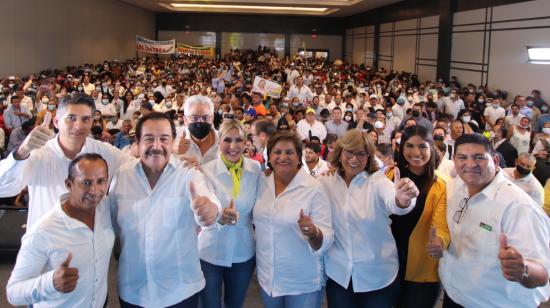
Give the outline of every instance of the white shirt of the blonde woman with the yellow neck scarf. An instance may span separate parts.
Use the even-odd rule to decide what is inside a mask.
[[[216,194],[224,207],[233,198],[233,179],[220,157],[201,166],[208,187]],[[256,190],[262,175],[260,163],[243,157],[241,191],[234,200],[239,220],[235,225],[223,225],[199,233],[199,254],[202,260],[214,265],[231,266],[250,260],[255,245],[252,230],[252,208],[256,202]]]

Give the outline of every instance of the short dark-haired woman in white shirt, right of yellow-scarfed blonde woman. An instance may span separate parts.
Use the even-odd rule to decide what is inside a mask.
[[[320,307],[322,256],[333,239],[327,195],[302,168],[302,144],[295,134],[276,132],[267,155],[273,172],[261,177],[254,206],[256,272],[264,307]]]

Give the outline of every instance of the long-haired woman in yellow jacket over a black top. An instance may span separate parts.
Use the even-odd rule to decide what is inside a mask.
[[[392,233],[399,255],[399,296],[395,307],[434,307],[441,285],[438,258],[449,245],[445,182],[435,175],[431,132],[422,126],[405,128],[394,173],[410,178],[420,191],[415,208],[392,216]]]

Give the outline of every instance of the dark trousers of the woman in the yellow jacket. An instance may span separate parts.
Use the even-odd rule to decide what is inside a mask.
[[[433,308],[441,292],[439,282],[401,281],[397,308]]]

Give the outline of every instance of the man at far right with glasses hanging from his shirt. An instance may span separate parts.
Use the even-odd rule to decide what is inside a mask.
[[[498,167],[491,142],[460,136],[447,185],[451,243],[439,265],[443,307],[536,307],[550,295],[550,221]]]

